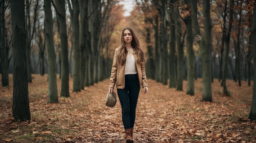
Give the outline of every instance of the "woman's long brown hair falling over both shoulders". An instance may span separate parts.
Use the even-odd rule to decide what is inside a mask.
[[[119,47],[120,48],[120,52],[118,55],[118,60],[121,61],[121,65],[124,65],[124,63],[126,62],[126,57],[128,54],[128,51],[126,49],[126,45],[124,42],[124,30],[130,30],[131,35],[132,35],[132,48],[134,48],[135,50],[135,54],[137,54],[137,61],[141,61],[141,63],[146,63],[147,59],[146,59],[146,54],[143,51],[143,48],[141,47],[139,40],[137,39],[137,36],[135,35],[135,32],[132,30],[132,28],[130,27],[125,27],[122,31],[122,35],[121,35],[121,44]]]

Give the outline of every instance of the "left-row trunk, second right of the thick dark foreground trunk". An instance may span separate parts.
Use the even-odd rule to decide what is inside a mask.
[[[61,39],[61,97],[69,97],[69,70],[65,0],[55,0]]]

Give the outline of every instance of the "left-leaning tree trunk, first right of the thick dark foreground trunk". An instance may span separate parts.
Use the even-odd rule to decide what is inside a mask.
[[[48,103],[58,103],[58,89],[56,77],[56,55],[53,40],[53,20],[51,0],[44,0],[45,11],[45,44],[48,63]]]

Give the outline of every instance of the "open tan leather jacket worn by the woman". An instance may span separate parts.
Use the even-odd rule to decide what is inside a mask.
[[[116,48],[114,58],[113,58],[113,65],[110,75],[110,82],[109,87],[114,88],[115,84],[117,83],[117,89],[124,89],[124,65],[121,65],[120,61],[117,60],[117,55],[119,54],[119,49]],[[137,54],[135,52],[132,53],[135,58],[137,73],[139,77],[139,85],[142,87],[147,87],[147,77],[146,77],[146,70],[145,70],[145,64],[141,63],[140,61],[137,61]]]

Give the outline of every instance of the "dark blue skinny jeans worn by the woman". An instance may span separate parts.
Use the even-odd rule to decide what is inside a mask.
[[[138,74],[127,74],[124,76],[124,89],[117,89],[117,94],[122,107],[122,120],[124,129],[133,128],[135,112],[139,97]]]

